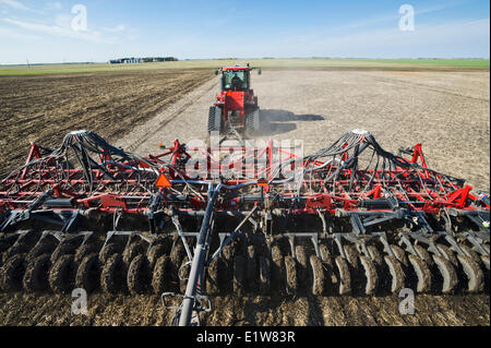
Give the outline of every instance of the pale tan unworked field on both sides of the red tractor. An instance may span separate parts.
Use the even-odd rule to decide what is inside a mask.
[[[489,191],[489,72],[265,70],[252,84],[264,121],[259,137],[302,140],[310,154],[364,129],[392,152],[421,143],[430,167]],[[216,88],[217,79],[136,128],[146,141],[133,133],[118,144],[146,155],[161,141],[205,139]]]

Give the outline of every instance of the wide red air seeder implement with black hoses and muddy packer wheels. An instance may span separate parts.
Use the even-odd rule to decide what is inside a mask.
[[[310,155],[229,155],[142,157],[87,131],[32,145],[0,181],[2,291],[153,291],[180,325],[231,292],[489,291],[489,195],[420,144],[395,155],[355,130]]]

